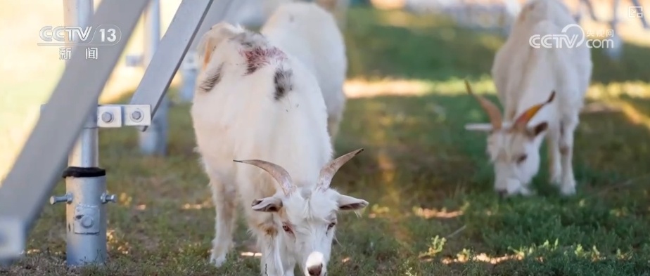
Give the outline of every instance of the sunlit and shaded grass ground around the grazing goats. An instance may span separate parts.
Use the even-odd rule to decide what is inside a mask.
[[[370,206],[361,218],[339,217],[329,275],[650,275],[650,48],[626,44],[620,63],[593,53],[590,103],[618,110],[581,116],[578,195],[546,185],[542,150],[539,194],[500,199],[485,137],[463,129],[487,117],[461,78],[495,100],[487,72],[503,39],[439,17],[358,8],[346,32],[350,79],[380,95],[350,98],[336,141],[339,153],[366,150],[333,187]],[[48,205],[27,256],[0,275],[257,275],[258,259],[240,255],[243,223],[227,264],[208,265],[214,209],[188,105],[172,107],[170,127],[166,158],[141,156],[133,129],[100,131],[100,164],[119,199],[107,206],[106,267],[65,267],[65,208]],[[63,192],[61,182],[54,193]]]

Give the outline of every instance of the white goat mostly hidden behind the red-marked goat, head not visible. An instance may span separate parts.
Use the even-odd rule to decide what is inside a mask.
[[[283,52],[298,58],[316,76],[327,107],[333,145],[345,110],[348,70],[345,44],[331,13],[315,3],[280,4],[260,32]]]

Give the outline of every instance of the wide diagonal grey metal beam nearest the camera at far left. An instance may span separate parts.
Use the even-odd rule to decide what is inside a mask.
[[[101,1],[90,26],[116,25],[120,41],[101,48],[97,59],[72,50],[70,62],[43,107],[34,130],[0,187],[0,261],[25,251],[27,232],[51,194],[75,140],[120,58],[148,0]],[[197,1],[200,2],[200,1]],[[83,88],[84,93],[79,93]]]

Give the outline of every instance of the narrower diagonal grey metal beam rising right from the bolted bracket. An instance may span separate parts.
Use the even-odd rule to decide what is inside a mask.
[[[151,116],[155,117],[212,1],[214,0],[181,2],[129,104],[151,105]],[[141,131],[146,129],[146,126],[140,128]]]

